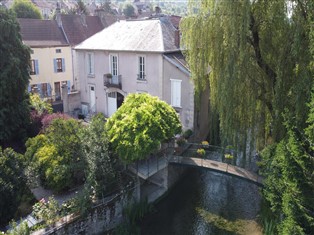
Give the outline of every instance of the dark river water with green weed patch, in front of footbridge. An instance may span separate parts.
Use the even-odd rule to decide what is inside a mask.
[[[179,167],[179,166],[178,166]],[[259,188],[204,169],[191,169],[142,221],[143,235],[261,235]]]

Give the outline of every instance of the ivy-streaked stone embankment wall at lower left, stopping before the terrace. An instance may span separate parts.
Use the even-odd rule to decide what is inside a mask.
[[[53,226],[33,232],[32,235],[101,234],[108,231],[123,220],[123,208],[138,200],[138,187],[139,185],[136,185],[107,201],[99,202],[87,216],[65,216]]]

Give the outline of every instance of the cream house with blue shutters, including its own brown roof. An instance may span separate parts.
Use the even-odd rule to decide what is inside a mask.
[[[31,48],[29,92],[62,100],[61,87],[73,85],[71,47],[56,21],[18,19],[23,43]]]

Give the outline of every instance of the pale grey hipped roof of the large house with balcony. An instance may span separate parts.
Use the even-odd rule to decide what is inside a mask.
[[[109,51],[178,51],[175,27],[168,17],[119,21],[88,38],[76,49]]]

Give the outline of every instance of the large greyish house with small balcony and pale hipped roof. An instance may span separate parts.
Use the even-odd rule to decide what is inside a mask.
[[[129,93],[149,93],[172,105],[194,130],[194,86],[168,16],[119,21],[75,47],[82,110],[110,117]]]

